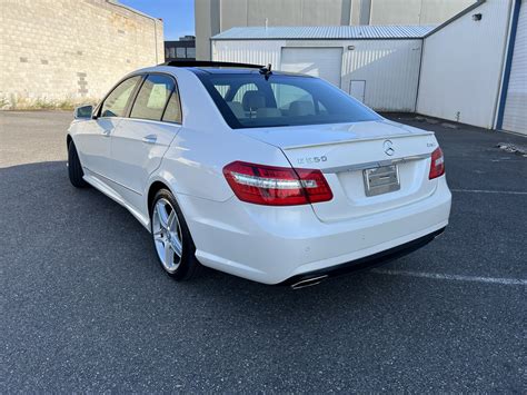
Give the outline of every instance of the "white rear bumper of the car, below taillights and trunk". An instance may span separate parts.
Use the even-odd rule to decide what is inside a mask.
[[[188,195],[177,198],[199,261],[259,283],[279,284],[339,269],[346,263],[351,267],[367,257],[375,260],[379,253],[399,246],[418,248],[447,226],[451,195],[441,177],[426,199],[337,223],[320,221],[309,205],[267,207],[237,198],[223,203]]]

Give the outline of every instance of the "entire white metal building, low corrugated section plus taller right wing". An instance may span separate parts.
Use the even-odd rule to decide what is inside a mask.
[[[232,28],[211,49],[325,78],[377,110],[527,134],[527,0],[478,0],[434,29]]]

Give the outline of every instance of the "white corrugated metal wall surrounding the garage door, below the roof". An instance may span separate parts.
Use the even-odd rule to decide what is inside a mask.
[[[381,111],[415,111],[421,40],[212,40],[212,59],[271,63],[280,69],[282,48],[342,48],[340,89],[365,81],[364,102]],[[352,49],[349,49],[352,48]],[[278,65],[278,67],[277,67]]]

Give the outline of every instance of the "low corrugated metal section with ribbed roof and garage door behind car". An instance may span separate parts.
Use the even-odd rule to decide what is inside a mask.
[[[326,79],[379,111],[415,111],[422,26],[232,28],[212,59],[267,65]]]

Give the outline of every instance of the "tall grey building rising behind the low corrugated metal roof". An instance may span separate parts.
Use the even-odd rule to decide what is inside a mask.
[[[438,24],[476,0],[195,0],[197,59],[235,27]]]

